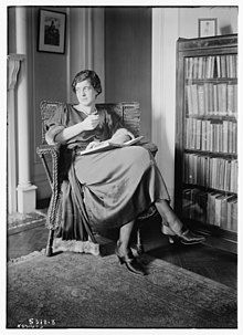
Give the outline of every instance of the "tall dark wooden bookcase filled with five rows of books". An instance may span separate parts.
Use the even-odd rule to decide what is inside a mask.
[[[236,245],[237,35],[179,39],[175,209]]]

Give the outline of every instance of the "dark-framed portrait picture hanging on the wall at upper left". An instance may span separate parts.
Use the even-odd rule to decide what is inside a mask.
[[[65,53],[66,14],[41,9],[38,51]]]

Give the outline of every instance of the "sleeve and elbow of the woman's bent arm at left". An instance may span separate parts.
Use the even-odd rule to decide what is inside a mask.
[[[66,128],[67,108],[59,106],[50,119],[45,123],[45,140],[50,145],[56,144],[55,136]]]

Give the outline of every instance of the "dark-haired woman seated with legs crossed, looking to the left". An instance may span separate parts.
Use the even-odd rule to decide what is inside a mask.
[[[142,146],[78,155],[106,140],[122,144],[134,135],[123,127],[117,115],[97,111],[95,101],[102,92],[101,81],[94,71],[76,74],[72,88],[78,104],[66,104],[49,123],[49,144],[62,143],[75,149],[73,167],[83,188],[85,209],[93,229],[119,228],[116,254],[131,272],[145,274],[142,265],[133,255],[129,240],[136,218],[155,205],[166,222],[163,232],[177,235],[181,242],[199,243],[204,238],[196,235],[176,216],[169,206],[162,176],[152,155]],[[59,232],[68,239],[65,221]],[[82,229],[82,228],[80,228]],[[78,230],[78,227],[75,227]]]

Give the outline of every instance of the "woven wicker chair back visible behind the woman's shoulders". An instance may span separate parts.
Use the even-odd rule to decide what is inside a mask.
[[[52,117],[56,111],[60,111],[60,106],[65,104],[62,102],[51,102],[42,101],[40,104],[41,108],[41,119],[42,119],[42,144],[46,144],[45,133],[46,123]],[[97,109],[106,109],[108,113],[116,113],[123,124],[128,130],[130,130],[135,136],[140,135],[140,108],[139,103],[108,103],[108,104],[96,104]]]

